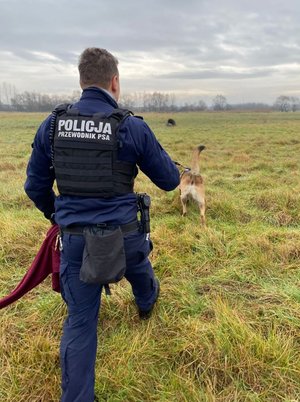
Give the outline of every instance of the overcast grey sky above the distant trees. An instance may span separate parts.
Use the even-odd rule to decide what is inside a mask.
[[[300,96],[300,0],[0,0],[0,84],[72,93],[90,46],[119,59],[126,94]]]

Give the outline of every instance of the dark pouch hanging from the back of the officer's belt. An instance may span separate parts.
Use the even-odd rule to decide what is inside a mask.
[[[80,279],[86,283],[108,285],[122,279],[126,270],[123,233],[120,227],[85,227]]]

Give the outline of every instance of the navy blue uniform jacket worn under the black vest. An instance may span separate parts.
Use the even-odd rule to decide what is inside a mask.
[[[82,92],[74,104],[81,113],[110,113],[118,105],[106,92],[90,87]],[[59,226],[95,223],[125,224],[136,219],[137,205],[134,193],[112,198],[88,198],[55,196],[55,175],[51,169],[49,128],[51,116],[39,127],[31,158],[27,166],[25,191],[46,217],[55,212]],[[118,151],[120,160],[135,163],[150,180],[162,190],[170,191],[179,184],[179,171],[166,151],[161,147],[148,125],[130,116],[121,125],[119,136],[123,143]]]

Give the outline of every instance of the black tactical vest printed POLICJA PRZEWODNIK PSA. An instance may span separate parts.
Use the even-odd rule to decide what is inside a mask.
[[[118,160],[120,123],[130,115],[115,109],[109,116],[81,115],[60,105],[51,121],[52,161],[59,193],[114,197],[133,192],[135,164]]]

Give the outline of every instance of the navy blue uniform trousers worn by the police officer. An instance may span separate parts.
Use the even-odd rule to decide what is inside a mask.
[[[136,231],[125,235],[124,247],[125,277],[131,284],[137,306],[147,310],[154,303],[157,293],[154,272],[148,259],[151,242],[144,233]],[[60,282],[68,316],[60,345],[61,402],[94,401],[97,322],[102,287],[79,279],[83,248],[83,236],[63,234]]]

